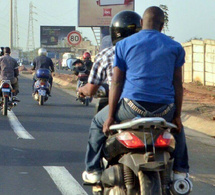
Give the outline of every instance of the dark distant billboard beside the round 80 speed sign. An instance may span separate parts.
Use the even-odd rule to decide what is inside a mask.
[[[40,26],[41,47],[69,47],[67,35],[75,26]]]

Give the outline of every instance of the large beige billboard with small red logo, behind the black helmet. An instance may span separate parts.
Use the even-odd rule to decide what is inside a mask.
[[[115,14],[134,10],[134,0],[79,0],[78,26],[109,26]]]

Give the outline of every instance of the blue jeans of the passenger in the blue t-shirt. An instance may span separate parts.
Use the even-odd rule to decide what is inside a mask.
[[[145,110],[140,104],[135,101],[132,101],[139,109],[146,111],[146,116],[144,117],[153,117],[153,114],[162,113],[167,109],[169,105],[164,105],[159,109],[149,112]],[[89,140],[87,144],[87,152],[85,157],[86,171],[94,172],[101,171],[102,167],[100,165],[100,159],[102,157],[102,148],[105,144],[107,137],[104,135],[102,128],[103,124],[108,117],[109,106],[103,108],[99,113],[95,115],[92,120],[90,130],[89,130]],[[172,107],[169,112],[162,116],[166,121],[171,122],[175,112],[175,107]],[[118,103],[117,111],[115,114],[116,122],[121,122],[127,119],[133,119],[137,116],[140,116],[136,111],[132,110],[127,103],[122,99]],[[143,116],[141,116],[143,117]],[[189,172],[188,165],[188,152],[186,146],[186,139],[184,128],[181,129],[181,132],[174,135],[176,140],[175,151],[173,154],[174,164],[173,170],[179,172]]]

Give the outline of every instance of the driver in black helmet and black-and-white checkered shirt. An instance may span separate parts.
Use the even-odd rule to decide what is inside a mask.
[[[80,94],[92,96],[96,94],[99,86],[103,84],[110,86],[115,44],[141,30],[140,20],[141,17],[133,11],[122,11],[113,17],[110,24],[111,45],[113,46],[103,49],[96,55],[88,83],[79,88]]]

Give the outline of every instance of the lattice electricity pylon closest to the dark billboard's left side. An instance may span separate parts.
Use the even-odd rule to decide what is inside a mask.
[[[29,5],[29,21],[28,21],[28,38],[27,38],[27,51],[29,52],[29,59],[33,60],[33,52],[35,50],[35,44],[34,44],[34,21],[36,21],[33,17],[33,14],[37,14],[33,11],[33,9],[36,8],[33,6],[33,3],[30,2]]]

